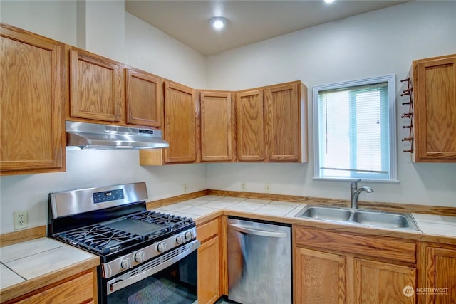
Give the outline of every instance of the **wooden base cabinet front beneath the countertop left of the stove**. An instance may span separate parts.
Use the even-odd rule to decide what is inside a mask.
[[[96,268],[9,300],[10,303],[98,303]]]

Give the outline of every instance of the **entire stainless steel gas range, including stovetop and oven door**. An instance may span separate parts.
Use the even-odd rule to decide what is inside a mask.
[[[51,193],[48,236],[100,256],[98,303],[195,303],[195,222],[146,200],[144,182]]]

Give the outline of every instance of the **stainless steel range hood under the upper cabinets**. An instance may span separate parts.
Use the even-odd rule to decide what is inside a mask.
[[[162,131],[152,128],[119,127],[66,121],[67,149],[154,149],[170,145]]]

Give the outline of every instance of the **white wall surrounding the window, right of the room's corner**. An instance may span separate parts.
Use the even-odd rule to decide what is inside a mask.
[[[302,80],[309,88],[308,164],[208,164],[207,187],[275,194],[349,199],[349,182],[314,180],[312,87],[379,75],[406,78],[413,60],[456,53],[456,2],[411,1],[268,41],[226,51],[207,59],[209,88],[240,90]],[[456,207],[456,164],[414,164],[400,118],[406,110],[397,100],[398,179],[369,184],[366,201]],[[408,110],[408,109],[407,109]],[[407,133],[407,134],[405,134]]]

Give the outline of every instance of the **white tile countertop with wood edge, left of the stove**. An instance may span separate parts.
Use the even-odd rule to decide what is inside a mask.
[[[15,295],[13,288],[26,293],[53,283],[61,271],[72,276],[68,267],[82,272],[100,264],[100,258],[91,253],[42,237],[0,248],[1,301]],[[30,286],[28,288],[28,286]],[[12,291],[11,291],[12,290]]]

